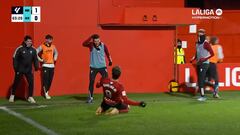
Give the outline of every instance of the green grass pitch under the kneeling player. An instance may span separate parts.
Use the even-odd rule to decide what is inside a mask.
[[[101,95],[86,104],[86,95],[36,97],[37,105],[17,100],[0,106],[21,113],[61,135],[239,135],[240,92],[221,92],[221,99],[207,94],[206,102],[183,93],[129,94],[147,102],[117,116],[95,116]],[[43,105],[42,108],[38,108]],[[0,135],[42,135],[39,129],[0,110]]]

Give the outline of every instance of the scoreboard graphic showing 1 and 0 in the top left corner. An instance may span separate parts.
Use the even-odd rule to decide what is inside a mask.
[[[40,6],[14,6],[11,11],[12,22],[40,22]]]

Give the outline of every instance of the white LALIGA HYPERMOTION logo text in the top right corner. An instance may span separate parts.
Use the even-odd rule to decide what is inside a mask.
[[[192,19],[221,19],[222,9],[192,9]]]

